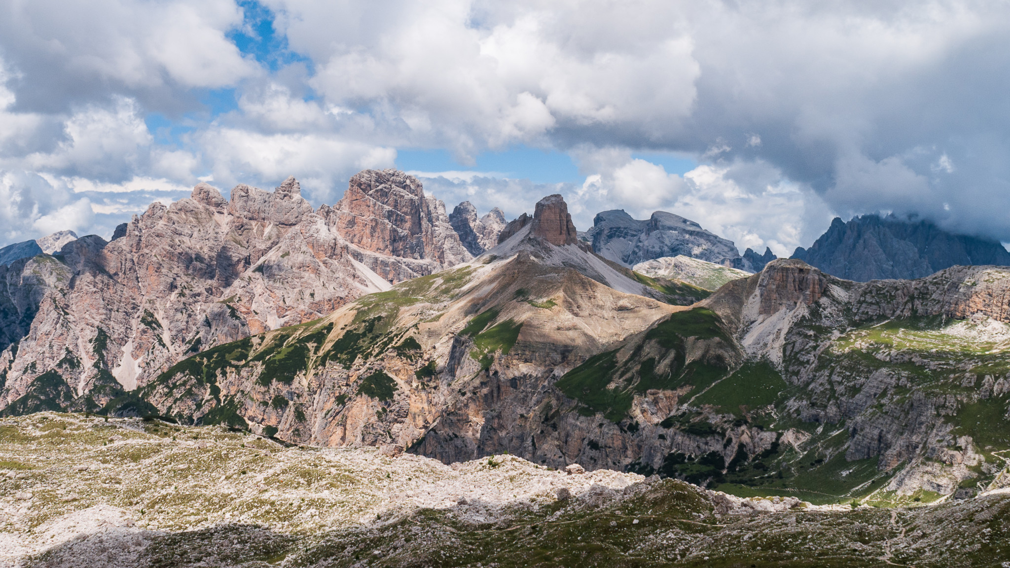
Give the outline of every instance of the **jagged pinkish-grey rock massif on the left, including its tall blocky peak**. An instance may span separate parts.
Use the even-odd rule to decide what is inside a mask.
[[[201,183],[111,242],[84,236],[0,267],[0,412],[46,407],[32,386],[42,375],[95,411],[193,353],[471,258],[416,180],[364,174],[342,208],[317,211],[294,178],[273,192],[236,186],[228,200]]]

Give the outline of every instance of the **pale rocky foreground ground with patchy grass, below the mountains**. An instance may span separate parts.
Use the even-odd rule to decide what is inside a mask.
[[[0,566],[1006,566],[1010,496],[918,508],[446,466],[221,427],[0,421]]]

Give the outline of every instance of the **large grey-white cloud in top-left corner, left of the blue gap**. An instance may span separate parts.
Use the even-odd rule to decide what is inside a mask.
[[[258,73],[225,32],[241,23],[230,0],[7,2],[0,44],[22,71],[59,90],[75,83],[128,88],[224,87]],[[88,85],[91,87],[91,85]]]

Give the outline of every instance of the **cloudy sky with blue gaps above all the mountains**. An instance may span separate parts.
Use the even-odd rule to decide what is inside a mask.
[[[5,0],[0,246],[367,168],[741,252],[874,212],[1006,243],[1007,37],[1003,1]]]

